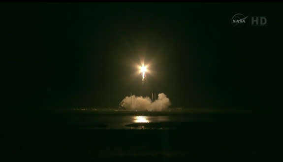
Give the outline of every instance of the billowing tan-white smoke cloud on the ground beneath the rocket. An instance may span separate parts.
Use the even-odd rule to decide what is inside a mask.
[[[147,110],[147,111],[162,111],[169,108],[171,102],[163,93],[158,94],[158,99],[154,102],[149,97],[125,97],[120,105],[127,110]]]

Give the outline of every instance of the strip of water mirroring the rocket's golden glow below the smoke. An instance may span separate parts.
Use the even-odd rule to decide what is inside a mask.
[[[181,127],[180,123],[193,123],[193,122],[222,122],[222,121],[250,121],[250,115],[243,116],[246,114],[161,114],[157,115],[156,113],[141,113],[136,115],[128,114],[115,114],[102,112],[101,114],[79,114],[71,116],[70,123],[79,123],[79,126],[82,126],[83,129],[131,129],[126,125],[137,125],[143,126],[146,125],[160,128],[161,126],[170,126],[173,128],[176,124],[178,127]],[[263,118],[261,118],[263,119]],[[258,120],[260,121],[260,119]],[[139,124],[140,123],[140,124]],[[101,127],[106,126],[106,127]],[[135,129],[135,128],[133,128]]]

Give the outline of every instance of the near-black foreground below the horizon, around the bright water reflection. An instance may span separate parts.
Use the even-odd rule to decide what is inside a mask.
[[[132,123],[127,126],[145,129],[112,130],[107,129],[107,122],[85,121],[98,114],[46,112],[41,118],[36,116],[37,119],[31,114],[6,114],[1,121],[4,157],[10,161],[41,162],[282,160],[282,122],[276,115],[265,115],[269,121],[254,120],[258,114],[241,113],[234,114],[234,118],[228,115],[222,121],[219,115],[219,120],[211,122]],[[110,114],[115,116],[113,112]],[[213,115],[205,115],[210,116]],[[243,117],[250,120],[235,120]]]

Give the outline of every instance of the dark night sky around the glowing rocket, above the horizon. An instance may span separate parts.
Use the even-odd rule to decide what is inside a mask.
[[[0,3],[3,106],[282,106],[282,3]],[[231,25],[236,13],[266,27]],[[155,75],[134,77],[144,56]]]

